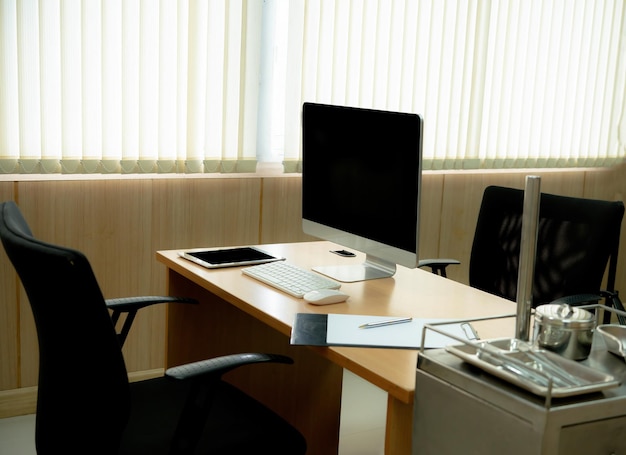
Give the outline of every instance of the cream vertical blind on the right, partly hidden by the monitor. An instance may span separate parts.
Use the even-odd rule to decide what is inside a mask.
[[[426,169],[608,166],[626,155],[624,0],[292,0],[288,8],[291,170],[304,101],[421,114]]]

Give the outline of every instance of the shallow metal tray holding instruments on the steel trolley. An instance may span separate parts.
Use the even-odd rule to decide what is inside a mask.
[[[514,338],[446,346],[466,362],[536,395],[554,398],[617,387],[613,376]]]

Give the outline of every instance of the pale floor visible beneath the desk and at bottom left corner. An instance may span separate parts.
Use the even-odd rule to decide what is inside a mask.
[[[384,452],[387,394],[344,371],[339,455]],[[0,419],[0,454],[35,455],[35,416]]]

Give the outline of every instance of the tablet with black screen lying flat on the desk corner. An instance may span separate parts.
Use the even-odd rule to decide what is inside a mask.
[[[285,259],[274,256],[257,247],[181,251],[180,256],[208,269],[262,264],[264,262],[283,261]]]

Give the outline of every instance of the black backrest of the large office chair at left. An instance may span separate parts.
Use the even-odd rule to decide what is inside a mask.
[[[89,262],[33,238],[12,201],[0,204],[0,238],[37,329],[38,453],[115,453],[130,412],[128,377]]]

